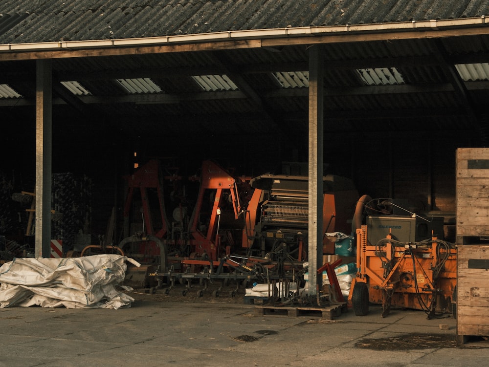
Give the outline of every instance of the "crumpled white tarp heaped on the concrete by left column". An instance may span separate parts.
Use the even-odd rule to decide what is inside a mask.
[[[121,255],[81,258],[13,259],[0,267],[0,308],[10,306],[66,308],[131,307],[134,299],[121,293],[126,261]]]

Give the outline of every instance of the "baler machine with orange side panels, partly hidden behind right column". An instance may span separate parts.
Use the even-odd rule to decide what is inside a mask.
[[[308,177],[263,174],[251,179],[255,189],[246,211],[243,244],[248,254],[276,259],[286,254],[306,261],[308,252]],[[353,181],[327,175],[323,180],[323,232],[350,234],[358,193]],[[323,245],[329,240],[323,238]],[[334,253],[330,243],[330,253]]]

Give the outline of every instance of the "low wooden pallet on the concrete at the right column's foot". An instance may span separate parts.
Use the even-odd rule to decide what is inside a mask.
[[[323,319],[334,320],[335,317],[340,316],[341,312],[346,312],[347,309],[346,302],[326,307],[263,305],[255,306],[255,315],[286,315],[288,317],[298,317],[320,314]]]

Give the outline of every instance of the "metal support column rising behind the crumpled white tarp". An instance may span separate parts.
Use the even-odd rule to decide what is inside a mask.
[[[51,254],[52,65],[36,62],[36,258]]]

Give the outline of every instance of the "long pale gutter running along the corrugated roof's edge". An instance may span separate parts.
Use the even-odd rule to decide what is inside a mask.
[[[189,35],[174,35],[147,38],[128,38],[114,40],[90,40],[90,41],[58,41],[39,43],[4,43],[0,44],[1,53],[27,52],[27,51],[63,51],[94,48],[137,47],[176,45],[185,43],[208,43],[219,41],[259,40],[273,38],[299,38],[331,35],[346,35],[358,33],[400,31],[426,31],[440,30],[442,28],[477,28],[486,23],[486,16],[477,18],[461,18],[453,20],[429,20],[410,22],[390,22],[372,24],[345,24],[310,27],[286,27],[257,30],[223,31],[214,33],[196,33]]]

